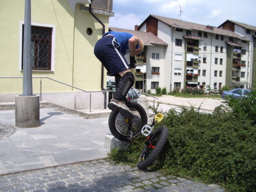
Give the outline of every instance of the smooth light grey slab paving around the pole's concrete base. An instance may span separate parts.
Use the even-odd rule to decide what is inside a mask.
[[[40,109],[40,126],[16,128],[15,110],[0,110],[0,174],[45,168],[107,157],[108,117],[84,119]],[[11,131],[9,131],[11,132]],[[2,134],[2,137],[1,137]],[[2,138],[2,139],[1,139]]]

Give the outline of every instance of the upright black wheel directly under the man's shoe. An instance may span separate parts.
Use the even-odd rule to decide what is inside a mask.
[[[119,111],[111,111],[108,119],[110,132],[115,138],[121,141],[129,141],[127,138],[129,121],[132,122],[130,131],[132,131],[134,136],[139,134],[141,128],[147,124],[147,113],[141,105],[135,102],[129,102],[126,106],[134,114],[133,119],[124,118]]]

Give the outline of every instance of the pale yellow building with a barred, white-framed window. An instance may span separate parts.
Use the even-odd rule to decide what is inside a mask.
[[[41,100],[85,109],[89,93],[68,85],[99,91],[106,83],[106,71],[102,75],[102,65],[93,48],[103,27],[108,29],[109,17],[114,15],[112,0],[93,0],[89,11],[90,2],[31,1],[33,93],[42,92]],[[25,0],[0,1],[0,102],[14,101],[15,95],[22,93],[22,78],[14,77],[23,76],[24,11]],[[94,107],[98,108],[104,103],[104,96],[102,92],[93,94]]]

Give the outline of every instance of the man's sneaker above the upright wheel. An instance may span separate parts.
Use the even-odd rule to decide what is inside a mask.
[[[108,108],[113,110],[118,110],[122,116],[128,119],[134,118],[134,114],[132,111],[127,107],[123,101],[118,101],[115,99],[111,99],[110,102],[108,103]]]

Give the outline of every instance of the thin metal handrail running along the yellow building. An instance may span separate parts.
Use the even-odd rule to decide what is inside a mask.
[[[23,77],[0,77],[0,78],[23,78]],[[72,87],[72,88],[74,88],[74,89],[82,90],[83,92],[89,92],[89,93],[90,93],[90,111],[89,111],[89,112],[91,112],[91,93],[92,93],[92,92],[115,92],[115,90],[94,90],[94,91],[86,91],[86,90],[80,89],[80,88],[78,88],[78,87],[74,87],[74,86],[72,86],[72,85],[69,85],[69,84],[67,84],[67,83],[63,83],[63,82],[61,82],[61,81],[58,81],[58,80],[55,80],[55,79],[52,79],[52,78],[49,78],[49,77],[32,77],[32,78],[40,79],[40,101],[42,101],[42,78],[43,78],[43,79],[50,79],[50,80],[52,80],[52,81],[56,81],[56,82],[58,82],[58,83],[61,83],[61,84],[63,84],[63,85],[67,85],[67,86]],[[140,91],[139,91],[139,92],[140,92]],[[146,94],[146,95],[148,95],[148,96],[151,96],[151,95],[149,95],[149,94],[147,94],[147,93],[144,93],[144,92],[141,92],[141,93],[142,93],[142,94]],[[154,96],[151,96],[151,97],[153,97],[154,99],[156,98],[156,97],[154,97]],[[156,98],[156,99],[158,99],[158,98]],[[154,102],[155,102],[155,100],[154,100]]]

